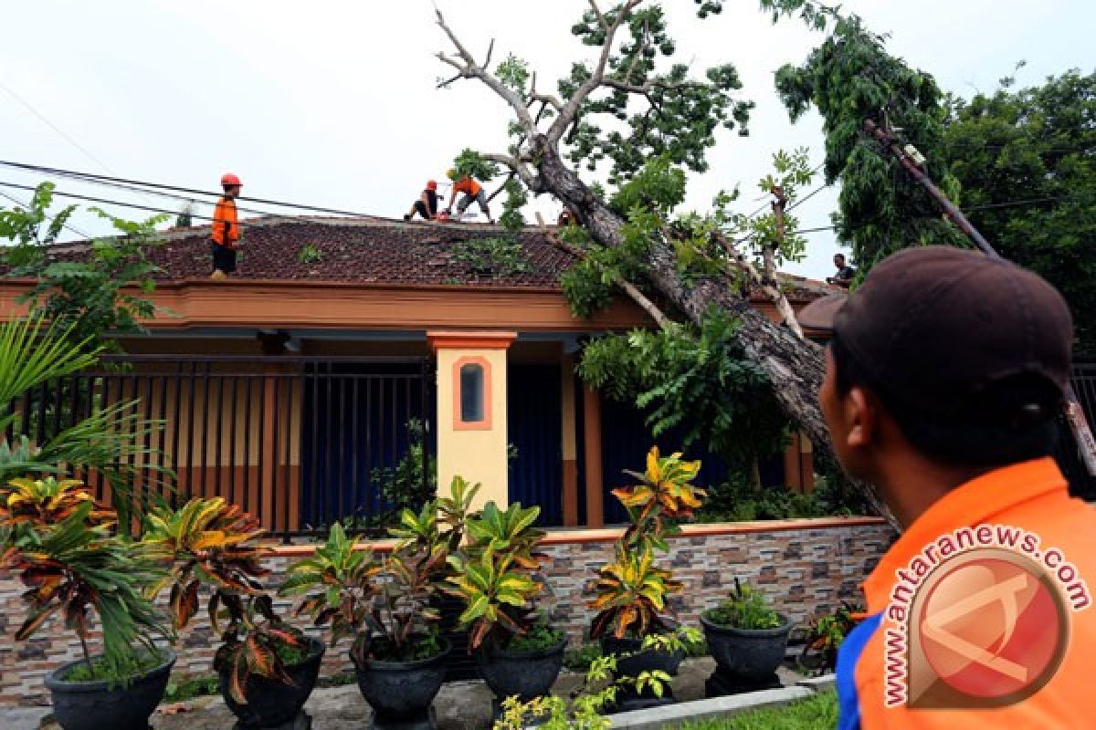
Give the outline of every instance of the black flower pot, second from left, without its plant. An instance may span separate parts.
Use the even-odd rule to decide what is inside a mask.
[[[243,728],[276,728],[293,720],[308,702],[320,675],[320,664],[323,662],[324,646],[317,639],[308,640],[308,656],[298,664],[286,667],[286,673],[293,684],[282,684],[276,680],[252,676],[248,680],[244,697],[247,705],[241,705],[228,692],[229,674],[220,672],[220,695],[232,714],[240,719]]]

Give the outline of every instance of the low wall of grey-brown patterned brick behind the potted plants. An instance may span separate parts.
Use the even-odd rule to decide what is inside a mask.
[[[685,624],[698,626],[700,612],[719,603],[733,587],[735,576],[763,590],[794,624],[801,624],[836,607],[842,600],[856,600],[857,586],[892,540],[892,531],[882,524],[682,536],[671,541],[663,564],[685,583],[684,593],[673,599]],[[549,556],[545,575],[550,589],[545,607],[556,625],[567,629],[571,641],[579,644],[592,617],[585,601],[594,570],[612,559],[613,543],[555,543],[544,552]],[[271,586],[281,582],[288,563],[285,557],[269,559]],[[56,619],[30,641],[14,642],[15,629],[25,617],[19,598],[22,591],[16,580],[0,578],[0,707],[48,705],[43,676],[80,656],[79,642]],[[288,612],[290,603],[278,601],[277,605]],[[175,676],[209,673],[216,638],[204,611],[199,611],[175,649]],[[329,650],[326,674],[350,668],[347,649],[340,645]]]

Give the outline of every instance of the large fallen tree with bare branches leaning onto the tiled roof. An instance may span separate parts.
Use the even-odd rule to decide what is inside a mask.
[[[603,9],[595,0],[587,2],[572,32],[597,49],[597,58],[592,66],[575,63],[570,77],[558,83],[557,93],[538,90],[536,74],[513,56],[492,72],[491,50],[484,61],[477,61],[438,11],[437,24],[453,50],[437,57],[456,71],[439,85],[476,80],[505,102],[513,115],[512,143],[505,152],[481,158],[503,165],[534,195],[559,199],[596,246],[609,256],[630,258],[621,270],[642,279],[635,283],[661,294],[674,316],[697,327],[712,311],[734,317],[742,351],[763,368],[786,415],[823,459],[832,459],[817,398],[824,372],[822,349],[802,338],[792,322],[781,326],[769,321],[743,296],[749,289],[742,286],[743,271],[752,270],[752,283],[773,297],[781,312],[790,313],[772,280],[772,251],[765,252],[763,244],[757,265],[749,260],[731,245],[726,217],[684,224],[671,220],[675,194],[664,188],[673,187],[672,174],[650,179],[641,175],[644,163],[653,159],[703,172],[705,151],[715,143],[718,128],[744,128],[752,104],[734,96],[741,83],[733,66],[708,69],[703,80],[693,78],[682,63],[659,72],[659,56],[675,53],[659,3],[625,0]],[[720,10],[719,2],[697,0],[697,4],[701,18]],[[815,25],[835,16],[825,8],[796,0],[761,0],[761,4],[776,14],[799,12]],[[601,118],[610,119],[616,128],[603,129]],[[593,171],[604,164],[609,184],[619,187],[614,196],[587,185],[578,172],[580,165]],[[683,264],[683,258],[692,263]],[[605,267],[604,262],[600,265]],[[604,278],[632,276],[617,273]],[[868,502],[890,519],[875,488],[859,487]]]

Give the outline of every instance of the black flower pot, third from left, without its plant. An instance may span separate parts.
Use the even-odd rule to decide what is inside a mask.
[[[357,688],[376,714],[375,726],[429,722],[430,705],[445,682],[445,662],[453,649],[444,636],[438,637],[438,641],[442,651],[430,659],[367,659],[354,668]]]

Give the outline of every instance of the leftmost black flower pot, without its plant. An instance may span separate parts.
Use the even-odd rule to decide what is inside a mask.
[[[148,730],[148,718],[163,699],[175,654],[161,649],[163,661],[123,687],[105,681],[68,682],[62,677],[83,660],[72,661],[46,675],[54,717],[64,730]]]

